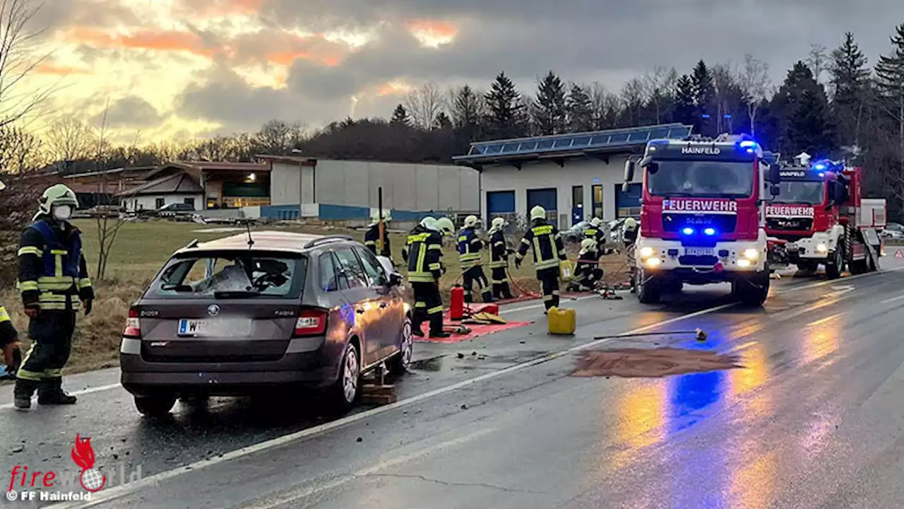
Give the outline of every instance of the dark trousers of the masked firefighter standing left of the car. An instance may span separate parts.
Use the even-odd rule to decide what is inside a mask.
[[[32,347],[22,360],[16,374],[16,396],[30,397],[38,393],[61,390],[62,369],[69,361],[72,333],[75,331],[74,311],[40,311],[28,324]]]

